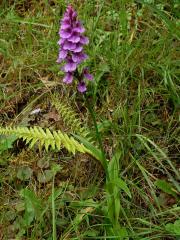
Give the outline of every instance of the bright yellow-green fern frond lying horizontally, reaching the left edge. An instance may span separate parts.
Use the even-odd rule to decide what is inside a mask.
[[[41,127],[0,127],[0,134],[15,135],[22,138],[32,148],[36,143],[44,146],[46,151],[51,147],[53,150],[60,150],[63,145],[69,152],[90,153],[90,151],[83,145],[76,141],[73,137],[69,137],[66,133],[58,131],[50,131],[48,128]]]

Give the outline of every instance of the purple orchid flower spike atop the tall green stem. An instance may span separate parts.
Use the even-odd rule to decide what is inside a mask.
[[[84,93],[87,90],[85,79],[93,80],[93,76],[89,73],[88,68],[84,68],[82,73],[78,72],[78,65],[84,62],[88,56],[84,53],[83,47],[89,43],[89,39],[83,35],[85,28],[77,19],[77,13],[71,5],[61,20],[59,30],[60,46],[57,63],[64,62],[62,70],[65,72],[63,82],[71,84],[76,76],[79,81],[77,89]],[[77,77],[78,76],[78,77]]]

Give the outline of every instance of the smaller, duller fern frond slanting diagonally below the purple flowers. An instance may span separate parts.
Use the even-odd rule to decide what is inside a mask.
[[[58,95],[52,95],[52,104],[62,117],[65,125],[71,129],[72,133],[80,134],[88,141],[93,142],[92,137],[90,137],[90,132],[87,128],[82,127],[83,124],[78,114],[65,101],[60,101]]]

